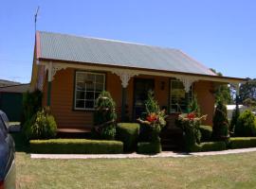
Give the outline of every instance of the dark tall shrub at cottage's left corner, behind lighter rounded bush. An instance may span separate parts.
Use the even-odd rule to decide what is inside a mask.
[[[36,90],[32,93],[26,92],[23,94],[23,116],[22,123],[24,125],[25,122],[31,119],[31,117],[38,112],[42,108],[42,92]]]

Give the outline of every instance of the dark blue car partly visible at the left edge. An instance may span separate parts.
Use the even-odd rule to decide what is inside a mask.
[[[9,119],[0,111],[0,189],[15,189],[15,144],[9,134]]]

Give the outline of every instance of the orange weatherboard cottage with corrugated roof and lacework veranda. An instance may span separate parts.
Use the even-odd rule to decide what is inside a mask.
[[[153,90],[172,128],[193,94],[208,114],[204,124],[211,125],[216,86],[230,83],[238,89],[244,81],[216,76],[174,48],[37,31],[30,90],[43,92],[43,105],[50,107],[59,130],[90,130],[102,90],[116,101],[119,121],[136,121]]]

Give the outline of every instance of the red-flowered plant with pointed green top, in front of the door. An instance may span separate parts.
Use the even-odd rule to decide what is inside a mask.
[[[138,118],[137,121],[146,128],[150,129],[149,132],[151,136],[150,141],[160,141],[159,133],[163,127],[166,126],[165,121],[165,110],[160,111],[159,105],[155,100],[154,94],[152,91],[148,93],[148,99],[145,101],[146,116],[143,118]]]

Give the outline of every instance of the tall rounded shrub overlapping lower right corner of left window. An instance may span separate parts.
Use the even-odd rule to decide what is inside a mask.
[[[101,92],[96,100],[96,111],[94,112],[94,137],[106,140],[114,140],[116,135],[117,113],[116,103],[111,94]]]

